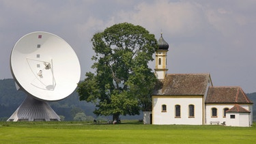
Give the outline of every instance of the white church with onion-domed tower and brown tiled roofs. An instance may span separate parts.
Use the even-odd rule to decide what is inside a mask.
[[[208,73],[167,74],[168,48],[161,33],[155,68],[160,85],[152,96],[152,111],[143,112],[144,124],[253,124],[253,102],[241,87],[213,86]]]

